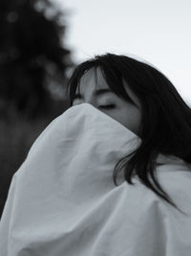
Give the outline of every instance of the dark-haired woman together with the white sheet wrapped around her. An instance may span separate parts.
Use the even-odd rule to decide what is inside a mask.
[[[190,108],[175,87],[107,54],[78,65],[68,89],[71,107],[12,177],[2,255],[189,256]]]

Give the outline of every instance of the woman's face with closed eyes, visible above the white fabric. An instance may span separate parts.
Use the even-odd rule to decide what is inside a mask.
[[[82,103],[94,105],[97,109],[114,118],[139,136],[140,103],[138,97],[130,90],[127,83],[124,82],[124,86],[130,98],[138,106],[120,99],[116,93],[110,90],[99,67],[96,68],[96,71],[92,68],[82,76],[80,94],[77,93],[78,88],[76,88],[73,105]]]

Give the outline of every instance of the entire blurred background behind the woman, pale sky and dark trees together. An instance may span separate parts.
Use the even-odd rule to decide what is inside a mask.
[[[155,65],[191,105],[189,0],[0,1],[0,217],[32,143],[69,107],[79,62],[107,52]]]

